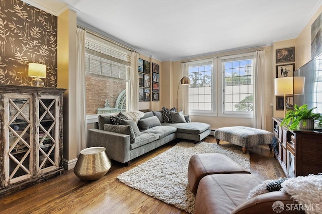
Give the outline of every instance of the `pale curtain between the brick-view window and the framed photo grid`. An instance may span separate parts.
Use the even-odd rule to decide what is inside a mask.
[[[138,74],[138,61],[139,54],[132,51],[131,53],[131,95],[127,96],[128,99],[128,109],[129,111],[139,110],[139,74]]]

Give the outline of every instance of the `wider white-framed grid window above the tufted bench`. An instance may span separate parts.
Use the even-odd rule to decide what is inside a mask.
[[[224,114],[250,114],[254,108],[253,54],[221,58]]]

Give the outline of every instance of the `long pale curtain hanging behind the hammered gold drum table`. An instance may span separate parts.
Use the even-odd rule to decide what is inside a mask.
[[[85,81],[85,36],[86,31],[77,28],[77,70],[76,70],[76,142],[77,155],[86,148],[86,81]]]

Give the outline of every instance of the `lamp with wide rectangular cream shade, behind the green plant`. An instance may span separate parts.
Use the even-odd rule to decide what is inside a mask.
[[[305,77],[280,77],[274,79],[275,95],[284,95],[284,117],[286,114],[286,94],[303,94]]]

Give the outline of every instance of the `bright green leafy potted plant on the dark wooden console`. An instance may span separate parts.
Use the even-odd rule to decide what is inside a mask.
[[[298,106],[294,105],[294,110],[289,111],[283,119],[281,126],[290,130],[294,129],[314,129],[314,120],[318,121],[318,127],[322,124],[322,118],[319,113],[312,113],[312,109],[307,109],[307,104]]]

